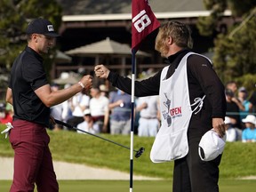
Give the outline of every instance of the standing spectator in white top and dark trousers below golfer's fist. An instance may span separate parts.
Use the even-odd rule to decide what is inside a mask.
[[[68,124],[77,126],[77,124],[84,122],[84,110],[89,108],[89,100],[90,97],[85,94],[84,90],[73,96],[71,102],[72,117],[68,119]]]

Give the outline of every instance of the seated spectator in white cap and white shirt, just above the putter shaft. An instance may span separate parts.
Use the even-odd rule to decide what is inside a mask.
[[[91,116],[91,112],[89,108],[84,110],[84,122],[77,124],[77,129],[83,130],[84,132],[91,132],[92,134],[96,134],[100,132],[100,128],[98,124],[94,124]],[[78,131],[78,133],[84,133]]]

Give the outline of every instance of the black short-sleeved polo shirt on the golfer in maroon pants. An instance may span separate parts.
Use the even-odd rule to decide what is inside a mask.
[[[50,108],[37,97],[35,90],[48,84],[43,58],[28,46],[12,65],[9,87],[12,89],[13,120],[22,119],[49,125]]]

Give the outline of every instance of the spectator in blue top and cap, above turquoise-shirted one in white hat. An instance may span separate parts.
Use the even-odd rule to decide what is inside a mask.
[[[247,100],[247,91],[245,87],[240,87],[238,89],[238,100],[242,103],[244,106],[244,110],[240,108],[240,119],[244,119],[249,113],[252,113],[252,103]]]

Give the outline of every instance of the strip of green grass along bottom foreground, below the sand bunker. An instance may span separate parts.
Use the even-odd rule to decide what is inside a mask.
[[[127,192],[129,180],[59,180],[60,192]],[[0,180],[0,191],[9,191],[10,180]],[[254,192],[255,180],[220,180],[221,192]],[[171,180],[135,180],[135,192],[172,192]]]

